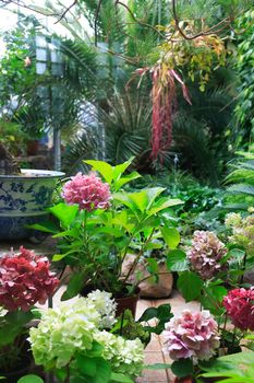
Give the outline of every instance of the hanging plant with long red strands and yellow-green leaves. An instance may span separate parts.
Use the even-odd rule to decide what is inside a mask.
[[[195,22],[185,21],[179,23],[185,34],[195,33]],[[192,81],[198,81],[199,90],[204,91],[209,76],[216,65],[225,65],[226,48],[221,38],[217,35],[198,35],[195,39],[185,39],[176,28],[174,21],[167,27],[160,27],[165,32],[165,42],[159,46],[160,58],[152,68],[141,68],[135,74],[141,76],[142,81],[146,72],[152,74],[152,159],[156,160],[160,154],[170,149],[172,143],[173,115],[177,111],[177,84],[180,84],[184,100],[191,105],[191,95],[176,68],[188,68],[188,77]],[[170,38],[169,38],[170,36]],[[140,83],[138,83],[140,85]]]

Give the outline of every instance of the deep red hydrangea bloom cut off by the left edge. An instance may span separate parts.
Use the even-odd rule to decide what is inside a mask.
[[[9,311],[44,304],[58,285],[49,260],[23,246],[19,254],[0,258],[0,305]]]

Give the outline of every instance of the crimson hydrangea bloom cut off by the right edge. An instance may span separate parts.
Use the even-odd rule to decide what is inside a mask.
[[[254,330],[254,288],[229,291],[223,299],[223,306],[235,327]]]

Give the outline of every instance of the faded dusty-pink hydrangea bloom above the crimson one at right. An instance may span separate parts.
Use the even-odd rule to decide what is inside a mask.
[[[211,279],[227,265],[221,264],[221,258],[227,254],[227,247],[210,231],[195,231],[192,247],[188,252],[189,260],[193,269],[204,279]]]

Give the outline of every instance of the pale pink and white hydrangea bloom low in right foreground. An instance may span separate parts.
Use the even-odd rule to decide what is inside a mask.
[[[220,344],[218,324],[207,310],[184,310],[166,324],[165,338],[171,359],[192,358],[193,362],[211,358]]]

